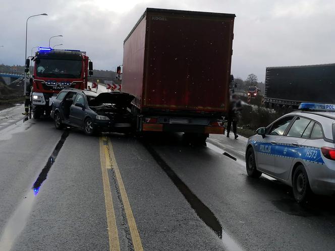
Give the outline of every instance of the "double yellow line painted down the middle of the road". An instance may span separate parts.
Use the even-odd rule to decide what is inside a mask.
[[[120,242],[118,235],[118,227],[116,222],[116,216],[113,206],[113,197],[111,196],[110,184],[108,178],[108,169],[112,169],[115,172],[117,182],[119,185],[119,190],[122,198],[122,203],[126,212],[126,217],[128,221],[128,226],[130,234],[133,240],[133,246],[135,251],[142,251],[142,243],[140,236],[138,234],[135,218],[130,207],[128,196],[126,193],[125,185],[123,183],[118,164],[115,159],[113,152],[113,146],[107,137],[100,137],[100,161],[101,161],[101,171],[102,171],[102,181],[103,181],[103,191],[105,197],[106,206],[106,216],[108,225],[108,237],[109,237],[109,249],[110,251],[120,250]]]

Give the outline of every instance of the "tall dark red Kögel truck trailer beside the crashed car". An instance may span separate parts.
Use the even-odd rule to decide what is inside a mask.
[[[146,9],[124,41],[138,131],[224,134],[234,14]]]

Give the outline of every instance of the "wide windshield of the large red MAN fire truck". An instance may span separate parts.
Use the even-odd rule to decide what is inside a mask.
[[[35,67],[37,77],[78,79],[81,77],[82,61],[37,58]]]

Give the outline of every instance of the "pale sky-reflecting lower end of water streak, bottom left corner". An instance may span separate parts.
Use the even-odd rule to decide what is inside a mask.
[[[34,193],[30,190],[27,196],[21,201],[19,207],[15,210],[7,222],[4,232],[0,238],[0,250],[11,250],[15,239],[20,235],[26,226],[28,217],[31,213],[35,200]]]

